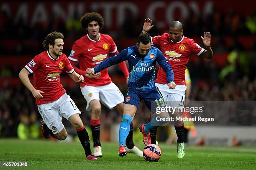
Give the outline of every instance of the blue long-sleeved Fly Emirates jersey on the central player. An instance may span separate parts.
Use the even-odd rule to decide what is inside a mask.
[[[128,89],[153,89],[155,87],[155,69],[156,61],[166,72],[166,81],[174,81],[174,73],[168,61],[161,51],[151,46],[146,56],[141,56],[137,46],[125,48],[120,53],[105,59],[99,65],[94,67],[94,72],[113,66],[122,61],[128,60],[129,63],[129,81]]]

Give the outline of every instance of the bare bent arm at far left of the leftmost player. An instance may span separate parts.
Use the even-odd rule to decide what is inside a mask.
[[[28,88],[28,90],[31,91],[31,93],[33,94],[33,96],[36,98],[36,99],[41,99],[43,98],[42,94],[44,94],[44,91],[41,91],[41,90],[36,90],[34,88],[34,86],[31,84],[29,78],[28,78],[28,75],[30,73],[25,69],[25,67],[20,71],[19,73],[19,78],[20,80],[22,81],[22,83],[26,86],[26,88]]]

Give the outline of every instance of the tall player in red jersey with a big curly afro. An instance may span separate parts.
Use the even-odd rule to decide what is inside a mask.
[[[102,157],[100,144],[100,113],[101,104],[109,109],[115,108],[123,114],[123,94],[118,87],[111,81],[108,69],[102,70],[94,75],[85,73],[87,68],[93,68],[110,56],[118,53],[113,39],[107,34],[99,31],[104,26],[104,19],[99,13],[86,13],[81,18],[81,25],[87,32],[85,36],[75,41],[69,60],[78,74],[85,76],[85,81],[80,85],[81,92],[87,101],[86,110],[92,110],[91,129],[93,137],[94,155]],[[79,69],[75,66],[79,62]],[[129,72],[125,62],[119,63],[125,77],[129,77]],[[130,126],[130,134],[126,140],[127,151],[142,157],[142,151],[133,144],[133,124]]]

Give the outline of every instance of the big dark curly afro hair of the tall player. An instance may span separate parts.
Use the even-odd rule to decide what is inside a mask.
[[[99,13],[96,13],[96,12],[86,13],[80,19],[82,28],[84,28],[84,30],[86,32],[88,32],[87,29],[86,29],[88,27],[88,24],[92,21],[97,21],[98,22],[98,24],[100,26],[100,30],[103,28],[104,18]]]

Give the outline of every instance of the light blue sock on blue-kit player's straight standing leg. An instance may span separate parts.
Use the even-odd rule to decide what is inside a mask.
[[[125,146],[125,140],[130,132],[130,124],[133,118],[129,114],[123,115],[122,122],[119,127],[119,145]]]

